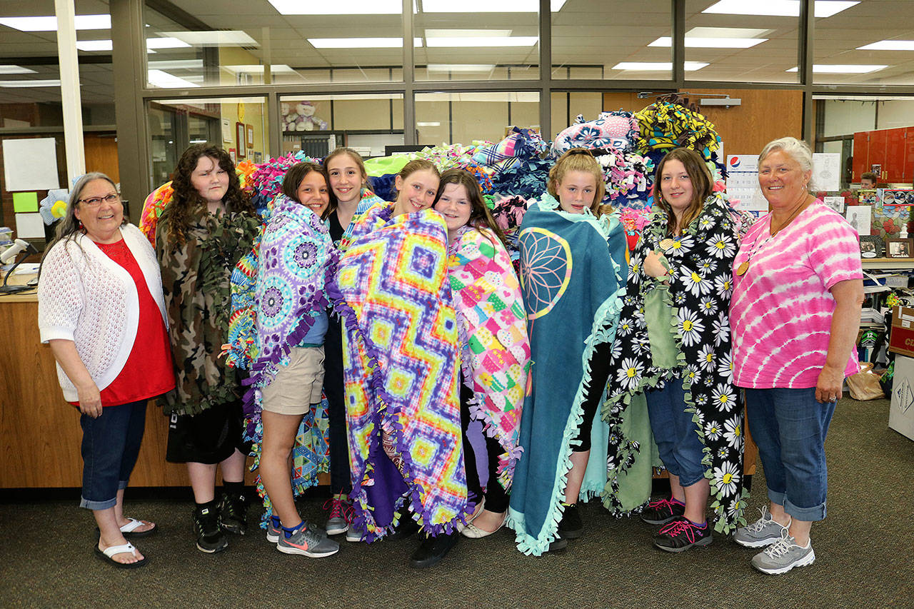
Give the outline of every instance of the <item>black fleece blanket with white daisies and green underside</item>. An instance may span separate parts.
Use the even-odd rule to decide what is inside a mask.
[[[711,485],[715,529],[728,533],[739,525],[748,495],[742,485],[743,408],[730,358],[729,304],[739,218],[717,193],[680,237],[666,234],[666,219],[663,210],[654,212],[632,255],[612,349],[611,391],[603,406],[611,428],[610,479],[603,503],[619,515],[640,511],[647,502],[650,455],[644,443],[650,433],[649,428],[646,438],[639,433],[647,422],[643,392],[682,382],[685,411],[692,413],[705,444],[702,463]],[[661,255],[671,269],[668,288],[643,272],[649,251]],[[635,469],[644,476],[641,497],[624,488]]]

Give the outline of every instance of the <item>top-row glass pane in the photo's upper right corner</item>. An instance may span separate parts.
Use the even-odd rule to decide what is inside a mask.
[[[813,82],[914,84],[914,10],[910,0],[861,2],[816,19]]]

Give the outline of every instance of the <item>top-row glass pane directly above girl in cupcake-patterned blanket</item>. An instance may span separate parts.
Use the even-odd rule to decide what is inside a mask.
[[[413,16],[416,80],[538,79],[537,2],[527,8],[478,13],[437,0],[420,3]]]

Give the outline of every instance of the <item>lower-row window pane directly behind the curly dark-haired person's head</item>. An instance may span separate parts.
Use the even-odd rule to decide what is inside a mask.
[[[146,115],[153,187],[171,179],[177,159],[190,144],[216,144],[236,163],[260,163],[270,156],[264,97],[154,100]]]

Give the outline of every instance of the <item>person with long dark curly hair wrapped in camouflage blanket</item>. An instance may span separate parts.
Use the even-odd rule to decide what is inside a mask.
[[[197,549],[225,550],[225,531],[244,534],[247,447],[241,388],[219,353],[228,335],[229,277],[260,226],[226,151],[187,148],[175,167],[175,193],[156,227],[177,387],[165,396],[171,417],[165,458],[186,463],[194,491]],[[221,466],[222,497],[216,497]]]

